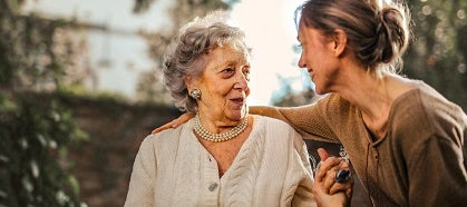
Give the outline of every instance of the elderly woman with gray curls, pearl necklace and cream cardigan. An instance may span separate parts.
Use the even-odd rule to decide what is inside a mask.
[[[283,121],[249,115],[250,51],[218,17],[183,27],[167,52],[165,85],[196,116],[143,141],[125,206],[315,206],[302,138]]]

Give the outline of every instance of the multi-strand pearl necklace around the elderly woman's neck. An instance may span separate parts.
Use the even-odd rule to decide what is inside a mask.
[[[206,128],[203,127],[203,125],[201,125],[200,116],[196,115],[195,121],[193,122],[193,129],[201,138],[205,140],[213,141],[213,142],[221,142],[221,141],[226,141],[239,136],[241,132],[243,132],[246,129],[247,125],[249,125],[249,119],[245,118],[240,125],[237,125],[230,131],[223,132],[223,134],[214,134],[214,132],[208,131]]]

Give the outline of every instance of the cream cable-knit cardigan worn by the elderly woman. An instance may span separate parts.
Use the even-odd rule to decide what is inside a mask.
[[[126,207],[315,206],[307,147],[289,125],[254,116],[250,137],[220,178],[193,121],[145,138]]]

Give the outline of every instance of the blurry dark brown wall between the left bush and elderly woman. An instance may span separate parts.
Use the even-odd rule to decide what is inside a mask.
[[[113,99],[65,97],[89,140],[69,148],[70,172],[80,185],[80,197],[90,207],[123,206],[133,161],[152,129],[179,115],[173,107],[129,105]]]

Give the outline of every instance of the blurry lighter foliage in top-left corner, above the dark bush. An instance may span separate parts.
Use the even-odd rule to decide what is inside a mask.
[[[0,88],[55,89],[69,81],[64,79],[67,73],[79,70],[74,66],[86,46],[77,46],[67,33],[68,28],[79,24],[22,14],[21,2],[0,2]]]

